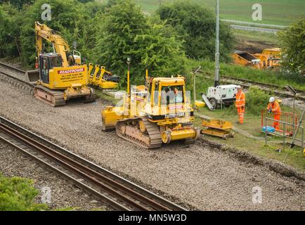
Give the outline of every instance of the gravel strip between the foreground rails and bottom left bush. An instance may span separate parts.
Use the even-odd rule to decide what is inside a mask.
[[[47,204],[50,210],[66,207],[72,207],[73,210],[107,209],[103,203],[74,186],[70,181],[66,181],[3,142],[0,142],[0,172],[8,177],[20,176],[32,179],[34,187],[40,191],[35,199],[36,203],[46,199],[44,190],[50,188],[51,202]]]

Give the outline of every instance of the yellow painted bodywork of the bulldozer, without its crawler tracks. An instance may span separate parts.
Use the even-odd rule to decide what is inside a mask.
[[[153,122],[160,128],[160,136],[164,143],[169,143],[176,140],[196,139],[199,131],[189,124],[195,117],[193,116],[193,108],[186,99],[185,80],[182,77],[175,78],[154,78],[150,81],[150,90],[145,91],[145,86],[140,86],[135,89],[136,93],[131,93],[131,96],[124,97],[122,107],[107,107],[102,111],[103,130],[115,128],[119,120],[124,120],[134,117],[147,117],[148,121]],[[155,90],[154,87],[159,87]],[[183,86],[183,95],[185,101],[183,103],[161,105],[161,90],[162,86]],[[158,104],[155,105],[155,95],[149,93],[158,92]],[[139,95],[141,94],[141,95]],[[145,95],[146,94],[146,95]],[[145,96],[145,97],[144,97]],[[175,117],[170,117],[174,115]],[[179,117],[178,115],[181,115]],[[160,116],[160,120],[156,119]],[[143,127],[141,127],[143,130]]]

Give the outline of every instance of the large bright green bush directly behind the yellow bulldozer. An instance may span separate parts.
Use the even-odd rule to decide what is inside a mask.
[[[133,84],[143,83],[146,67],[153,76],[183,72],[186,58],[174,29],[158,20],[152,23],[134,1],[117,1],[106,10],[102,20],[93,61],[124,77],[124,84],[129,56]]]

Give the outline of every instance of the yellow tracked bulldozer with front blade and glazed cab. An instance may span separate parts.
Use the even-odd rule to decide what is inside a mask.
[[[192,124],[194,111],[186,97],[185,78],[148,78],[146,71],[146,81],[146,91],[141,86],[130,93],[128,72],[122,104],[102,110],[103,131],[116,129],[122,139],[148,149],[177,140],[193,143],[200,129]]]

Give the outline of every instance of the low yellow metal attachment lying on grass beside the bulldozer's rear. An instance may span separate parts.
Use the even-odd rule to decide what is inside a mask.
[[[207,134],[210,136],[218,136],[222,139],[233,138],[234,134],[232,132],[231,122],[226,122],[222,120],[202,120],[202,126],[206,129],[201,130],[201,134]]]

